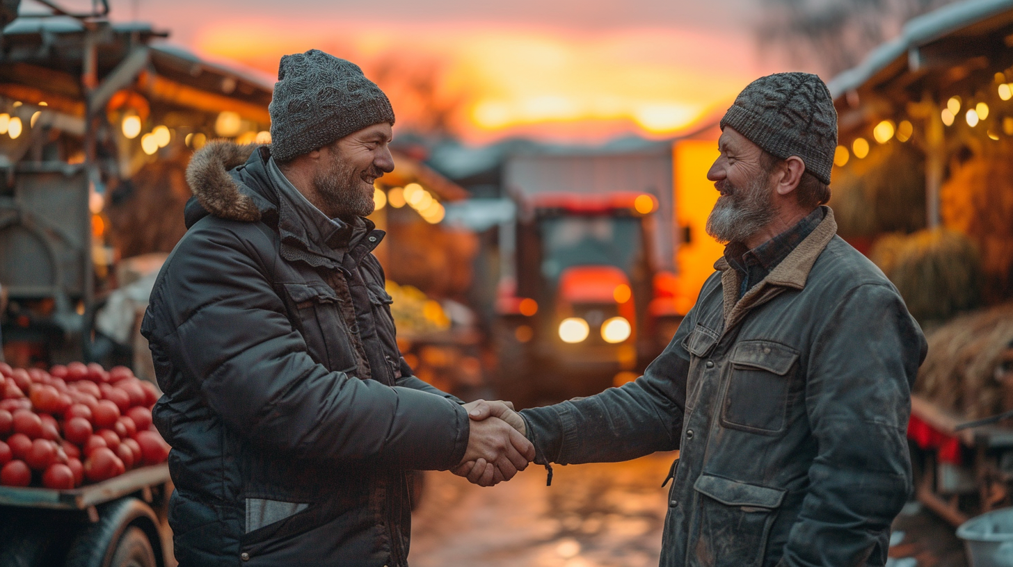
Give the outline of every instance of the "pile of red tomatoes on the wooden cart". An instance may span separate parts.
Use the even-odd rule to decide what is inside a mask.
[[[151,424],[158,390],[126,367],[0,362],[0,485],[68,490],[162,463]]]

